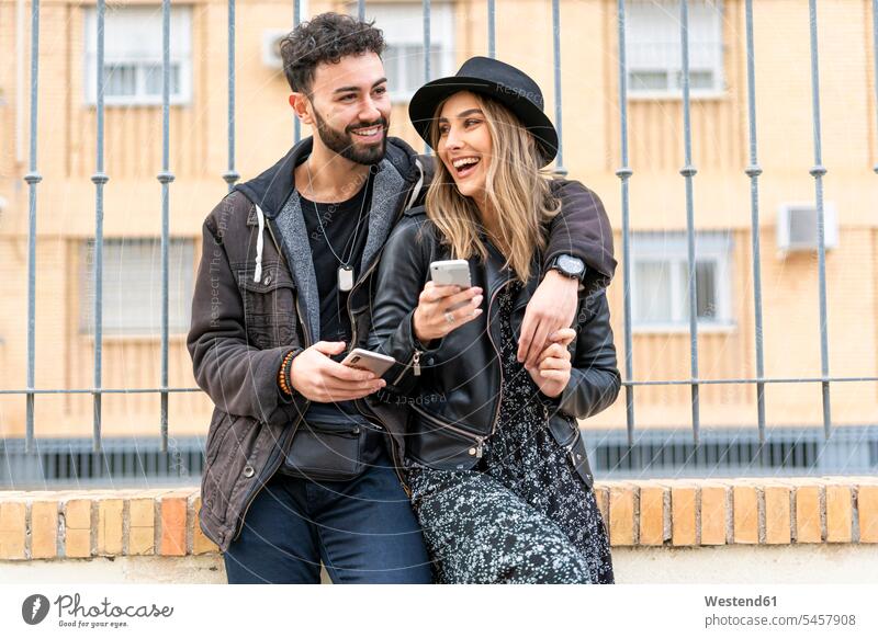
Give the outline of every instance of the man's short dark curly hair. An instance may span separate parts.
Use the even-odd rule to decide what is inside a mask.
[[[341,58],[372,52],[379,56],[386,44],[373,22],[359,22],[341,13],[320,13],[303,22],[281,39],[283,73],[290,88],[309,93],[314,70],[320,62],[338,64]]]

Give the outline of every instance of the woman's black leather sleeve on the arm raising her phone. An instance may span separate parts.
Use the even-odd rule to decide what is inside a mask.
[[[417,385],[412,365],[415,351],[430,352],[441,344],[435,340],[426,348],[412,324],[435,254],[430,229],[423,218],[404,217],[387,239],[373,282],[369,349],[396,361],[382,377],[391,392],[410,394]]]

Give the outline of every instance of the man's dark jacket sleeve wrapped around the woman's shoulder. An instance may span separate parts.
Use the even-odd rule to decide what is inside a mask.
[[[604,203],[575,180],[552,180],[550,185],[561,201],[561,210],[549,224],[543,269],[548,270],[559,254],[572,254],[585,262],[583,295],[606,288],[616,272],[616,259]]]

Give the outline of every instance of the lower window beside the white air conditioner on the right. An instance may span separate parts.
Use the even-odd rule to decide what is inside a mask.
[[[729,327],[731,236],[695,237],[696,312],[699,328]],[[677,330],[689,326],[689,265],[684,232],[631,236],[631,315],[634,328]]]

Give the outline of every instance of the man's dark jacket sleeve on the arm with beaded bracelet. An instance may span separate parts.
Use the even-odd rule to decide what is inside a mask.
[[[251,417],[272,424],[293,420],[306,406],[295,392],[285,397],[278,386],[281,361],[290,350],[281,346],[259,350],[247,342],[244,304],[228,255],[217,231],[241,215],[241,195],[229,195],[214,208],[202,227],[201,263],[192,297],[192,322],[187,349],[192,357],[195,381],[214,405],[229,414]]]

